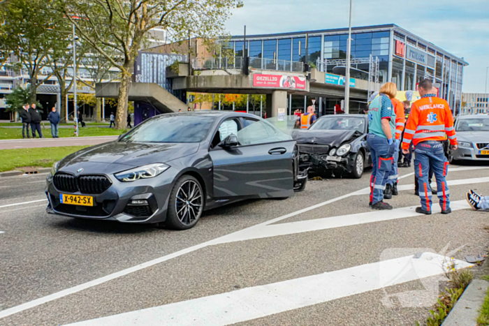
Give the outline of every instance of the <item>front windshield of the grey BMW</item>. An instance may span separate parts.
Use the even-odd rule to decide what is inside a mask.
[[[201,142],[214,117],[169,115],[147,120],[122,138],[123,142]]]

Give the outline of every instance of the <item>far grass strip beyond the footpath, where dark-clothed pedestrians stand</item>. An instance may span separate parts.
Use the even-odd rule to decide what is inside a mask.
[[[51,136],[51,127],[43,128],[43,137],[52,138]],[[112,128],[80,128],[79,135],[80,137],[88,137],[88,136],[110,136],[110,135],[120,135],[121,133],[125,133],[125,130],[116,130]],[[73,137],[73,129],[72,128],[59,128],[58,135],[59,138],[64,137]],[[22,129],[21,128],[1,128],[0,127],[0,140],[6,139],[21,139],[22,138]]]

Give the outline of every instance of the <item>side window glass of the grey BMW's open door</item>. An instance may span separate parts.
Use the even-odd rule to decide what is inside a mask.
[[[251,121],[251,123],[238,131],[237,134],[240,145],[265,144],[291,139],[289,135],[282,133],[267,121],[253,119],[247,119],[247,121]]]

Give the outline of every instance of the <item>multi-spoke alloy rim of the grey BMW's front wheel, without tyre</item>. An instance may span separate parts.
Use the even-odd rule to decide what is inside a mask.
[[[194,180],[185,181],[177,191],[175,208],[178,219],[184,225],[193,224],[202,211],[203,198],[200,186]]]

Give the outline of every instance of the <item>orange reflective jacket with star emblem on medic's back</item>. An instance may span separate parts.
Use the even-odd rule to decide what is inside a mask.
[[[411,113],[404,130],[402,149],[409,149],[427,140],[443,141],[448,136],[451,145],[457,145],[453,115],[448,103],[436,96],[426,96],[411,105]]]

